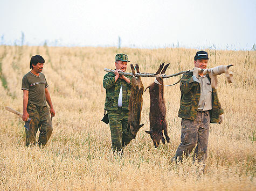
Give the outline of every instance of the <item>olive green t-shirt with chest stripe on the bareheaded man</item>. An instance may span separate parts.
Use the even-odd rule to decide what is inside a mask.
[[[39,76],[36,76],[30,71],[22,78],[22,90],[29,91],[28,104],[40,107],[46,106],[46,87],[48,87],[48,84],[43,73],[39,73]]]

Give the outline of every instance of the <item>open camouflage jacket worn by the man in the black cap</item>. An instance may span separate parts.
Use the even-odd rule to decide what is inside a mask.
[[[193,72],[186,72],[181,78],[181,106],[178,116],[184,119],[195,120],[197,115],[198,102],[200,98],[200,84],[192,78]],[[210,79],[210,77],[207,75]],[[211,79],[210,79],[211,80]],[[210,110],[211,123],[219,122],[219,115],[224,111],[220,106],[217,90],[212,89],[212,109]]]

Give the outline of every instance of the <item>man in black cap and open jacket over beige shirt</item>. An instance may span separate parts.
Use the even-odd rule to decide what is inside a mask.
[[[193,159],[204,163],[210,123],[222,123],[224,111],[216,89],[212,89],[209,75],[198,74],[199,69],[207,67],[207,52],[197,52],[194,60],[193,71],[186,72],[181,78],[181,106],[178,112],[178,116],[182,118],[181,144],[172,161],[182,161],[183,155],[188,157],[197,145]]]

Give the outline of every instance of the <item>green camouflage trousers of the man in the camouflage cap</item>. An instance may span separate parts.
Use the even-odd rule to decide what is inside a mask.
[[[127,133],[128,110],[108,111],[109,126],[111,131],[113,151],[123,151],[124,146],[132,141],[133,136],[130,130]]]

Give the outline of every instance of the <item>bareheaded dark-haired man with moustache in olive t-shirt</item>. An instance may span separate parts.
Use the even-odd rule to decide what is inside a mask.
[[[23,117],[26,121],[27,117],[32,119],[29,130],[26,131],[26,146],[36,144],[36,133],[39,129],[38,145],[44,146],[52,134],[52,122],[50,113],[55,115],[52,106],[50,93],[47,90],[48,84],[45,76],[41,71],[44,67],[44,58],[40,55],[31,57],[30,68],[22,79],[23,90]],[[46,105],[46,101],[50,106]]]

